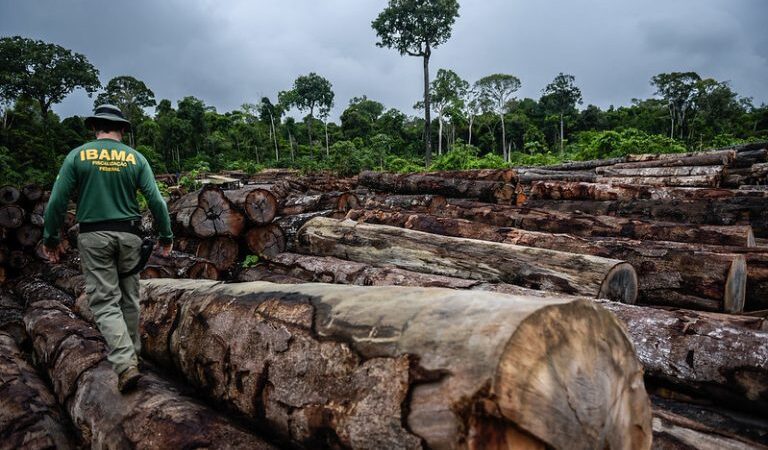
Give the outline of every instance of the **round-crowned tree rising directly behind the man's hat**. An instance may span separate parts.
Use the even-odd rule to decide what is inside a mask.
[[[125,114],[126,118],[135,127],[144,117],[144,108],[155,106],[155,93],[134,77],[123,75],[109,80],[104,92],[96,97],[93,106],[110,103]],[[130,145],[134,145],[133,133],[130,135]]]

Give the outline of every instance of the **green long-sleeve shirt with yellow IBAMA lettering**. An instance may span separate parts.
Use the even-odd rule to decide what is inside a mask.
[[[168,207],[144,155],[113,139],[98,139],[67,155],[53,185],[45,210],[44,244],[59,243],[69,197],[77,188],[77,221],[132,220],[141,217],[136,190],[140,190],[155,218],[160,242],[173,239]]]

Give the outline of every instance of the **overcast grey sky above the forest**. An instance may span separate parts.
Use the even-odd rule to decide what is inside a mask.
[[[334,117],[367,95],[407,114],[422,95],[421,61],[376,47],[371,21],[385,0],[0,0],[0,36],[22,35],[84,54],[106,84],[143,80],[157,100],[193,95],[219,112],[275,99],[302,74],[328,78]],[[432,75],[522,80],[538,98],[558,72],[573,74],[584,105],[626,105],[653,94],[660,72],[696,71],[768,102],[766,0],[462,0]],[[83,115],[71,94],[54,110]]]

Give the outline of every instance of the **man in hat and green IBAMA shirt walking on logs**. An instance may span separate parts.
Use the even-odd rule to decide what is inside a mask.
[[[77,189],[77,247],[88,306],[107,341],[107,359],[118,374],[118,389],[127,392],[141,378],[139,271],[152,245],[140,237],[137,190],[146,197],[158,225],[163,256],[171,251],[173,234],[152,168],[141,153],[121,142],[131,124],[120,109],[98,106],[85,124],[96,133],[96,140],[64,159],[45,211],[43,243],[46,256],[57,263],[63,253],[59,230],[70,194]]]

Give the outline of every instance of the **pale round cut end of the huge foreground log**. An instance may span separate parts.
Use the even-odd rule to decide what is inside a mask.
[[[553,448],[650,448],[643,369],[616,318],[591,302],[523,321],[493,390],[504,417]]]

